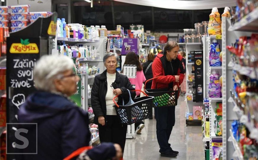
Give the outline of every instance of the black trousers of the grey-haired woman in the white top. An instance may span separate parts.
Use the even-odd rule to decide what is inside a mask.
[[[112,142],[121,146],[124,152],[127,125],[119,122],[118,116],[107,116],[104,126],[99,125],[100,142]]]

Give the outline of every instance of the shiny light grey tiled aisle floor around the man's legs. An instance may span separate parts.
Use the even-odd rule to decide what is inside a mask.
[[[142,135],[135,139],[126,139],[125,160],[201,160],[203,159],[203,142],[201,126],[185,126],[185,105],[180,96],[176,106],[176,124],[170,136],[172,149],[179,151],[177,158],[161,157],[156,138],[156,120],[146,119]]]

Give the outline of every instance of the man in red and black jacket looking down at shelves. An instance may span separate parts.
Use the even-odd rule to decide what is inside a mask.
[[[164,52],[160,52],[152,63],[153,77],[159,77],[152,82],[152,89],[169,88],[178,90],[184,79],[183,58],[178,54],[179,45],[176,41],[168,41]],[[164,157],[176,157],[178,151],[173,151],[169,144],[173,126],[175,124],[175,106],[156,107],[156,133],[159,152]]]

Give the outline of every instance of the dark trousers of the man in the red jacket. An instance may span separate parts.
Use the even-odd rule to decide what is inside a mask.
[[[156,117],[156,133],[160,147],[159,152],[171,150],[169,137],[175,125],[175,106],[154,108]]]

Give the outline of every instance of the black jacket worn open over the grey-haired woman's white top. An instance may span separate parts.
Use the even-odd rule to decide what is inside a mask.
[[[127,76],[124,76],[116,71],[116,80],[112,83],[114,89],[120,88],[122,95],[118,97],[118,105],[122,105],[122,97],[124,98],[125,104],[129,101],[129,93],[127,89],[134,90]],[[94,83],[91,90],[91,105],[94,113],[94,123],[99,124],[98,117],[104,116],[106,120],[107,106],[106,106],[106,94],[108,90],[107,83],[107,70],[100,75],[97,75],[94,79]],[[136,96],[135,92],[130,91],[132,99]]]

